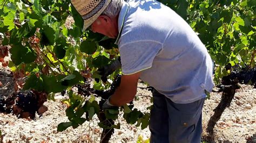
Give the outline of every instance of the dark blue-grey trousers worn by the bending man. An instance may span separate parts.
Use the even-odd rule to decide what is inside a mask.
[[[177,104],[154,90],[150,142],[201,142],[204,101]]]

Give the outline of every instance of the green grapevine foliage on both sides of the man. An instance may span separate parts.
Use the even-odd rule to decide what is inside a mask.
[[[256,1],[160,2],[175,10],[198,33],[215,62],[214,80],[217,84],[230,73],[225,69],[228,64],[238,69],[255,66]],[[70,22],[70,16],[74,23]],[[82,27],[83,19],[69,0],[0,0],[2,44],[11,47],[11,70],[24,70],[28,75],[24,90],[44,91],[52,98],[56,92],[83,84],[81,72],[99,78],[97,68],[118,58],[118,50],[112,48],[113,40],[106,40],[103,35],[91,31],[82,32]],[[44,72],[46,68],[49,72]],[[110,80],[119,72],[110,75]],[[100,81],[93,87],[103,90],[109,86],[110,83]],[[100,112],[93,95],[83,98],[70,91],[69,97],[65,102],[70,105],[66,110],[70,121],[60,124],[59,131],[69,126],[76,128]],[[132,106],[124,106],[122,110],[127,123],[137,123],[142,128],[148,125],[149,113],[142,113]],[[83,118],[84,113],[89,117]],[[116,119],[118,110],[108,110],[105,114]]]

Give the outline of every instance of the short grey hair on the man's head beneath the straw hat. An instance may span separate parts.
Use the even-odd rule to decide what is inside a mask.
[[[106,9],[102,12],[102,15],[109,17],[116,17],[122,8],[124,0],[112,0]]]

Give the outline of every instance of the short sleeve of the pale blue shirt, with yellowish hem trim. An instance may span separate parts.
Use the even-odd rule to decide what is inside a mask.
[[[131,75],[152,67],[154,58],[163,45],[157,41],[134,41],[119,47],[122,72]]]

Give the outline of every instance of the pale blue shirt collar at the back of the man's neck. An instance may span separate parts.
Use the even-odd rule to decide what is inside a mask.
[[[118,31],[119,31],[119,33],[117,36],[117,40],[116,40],[116,42],[114,42],[114,44],[118,44],[118,41],[120,39],[122,30],[123,30],[123,26],[124,26],[124,19],[125,19],[125,16],[126,16],[128,10],[129,10],[129,4],[126,2],[123,2],[122,9],[120,10],[119,16],[118,16]]]

